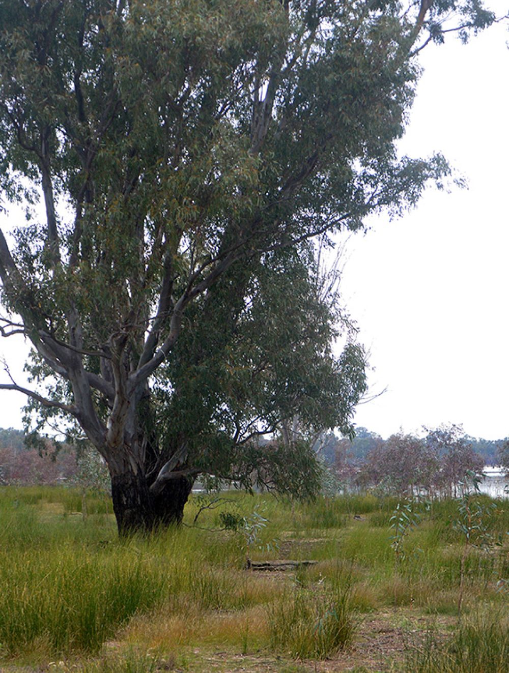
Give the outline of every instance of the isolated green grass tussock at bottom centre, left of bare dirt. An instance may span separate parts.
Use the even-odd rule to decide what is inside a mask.
[[[267,609],[271,649],[296,659],[325,659],[351,645],[350,587],[325,596],[299,589]]]

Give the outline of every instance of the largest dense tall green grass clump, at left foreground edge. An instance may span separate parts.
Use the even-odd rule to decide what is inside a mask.
[[[12,656],[44,640],[48,651],[98,651],[138,610],[158,605],[168,581],[128,550],[26,552],[0,561],[0,643]]]

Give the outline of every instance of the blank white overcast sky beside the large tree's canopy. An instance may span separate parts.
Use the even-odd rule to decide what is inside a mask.
[[[509,0],[490,5],[509,11]],[[355,423],[382,436],[447,422],[475,437],[509,435],[508,37],[496,26],[421,55],[401,149],[441,151],[469,189],[428,190],[402,219],[375,219],[347,242],[345,306],[370,351],[370,392],[387,388]],[[23,382],[26,345],[4,339],[2,351]],[[0,427],[21,427],[22,404],[0,391]]]

